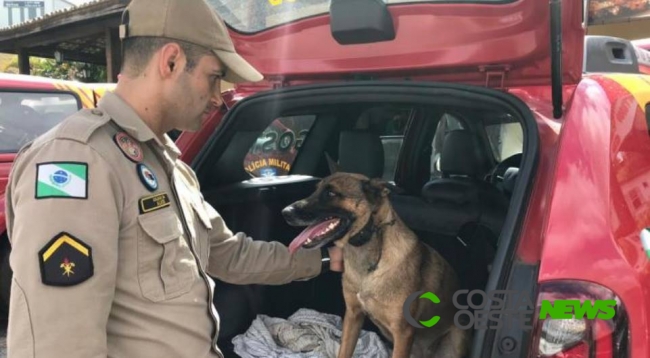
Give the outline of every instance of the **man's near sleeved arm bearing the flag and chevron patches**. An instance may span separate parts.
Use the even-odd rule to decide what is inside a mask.
[[[88,145],[51,140],[14,164],[9,358],[107,356],[123,191]]]

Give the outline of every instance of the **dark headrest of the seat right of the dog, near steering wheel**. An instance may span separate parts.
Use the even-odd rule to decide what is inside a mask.
[[[483,174],[485,167],[485,154],[471,132],[454,130],[445,135],[440,154],[440,171],[443,174],[477,177]]]

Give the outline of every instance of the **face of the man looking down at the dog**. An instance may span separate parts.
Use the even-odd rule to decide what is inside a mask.
[[[191,72],[183,69],[179,73],[172,98],[168,98],[177,129],[201,129],[210,113],[221,106],[222,76],[223,66],[212,55],[201,57]]]

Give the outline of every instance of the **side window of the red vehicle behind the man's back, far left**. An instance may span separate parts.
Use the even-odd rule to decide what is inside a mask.
[[[81,109],[72,94],[0,92],[0,153],[15,153]]]

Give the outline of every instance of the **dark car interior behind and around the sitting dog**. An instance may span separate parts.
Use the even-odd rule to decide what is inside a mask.
[[[286,224],[282,209],[309,196],[334,164],[339,171],[393,183],[393,208],[418,238],[449,261],[463,288],[485,287],[518,180],[523,130],[515,117],[499,110],[373,101],[278,113],[238,116],[236,128],[224,129],[230,134],[221,154],[207,155],[197,172],[205,199],[231,230],[288,245],[302,228]],[[289,175],[253,177],[245,170],[252,146],[273,121],[297,116],[312,123],[290,158]],[[299,308],[345,313],[340,273],[280,286],[216,282],[219,344],[228,356],[234,356],[232,338],[258,314],[287,318]],[[363,329],[378,332],[370,320]]]

